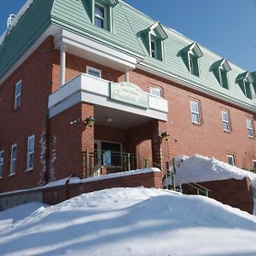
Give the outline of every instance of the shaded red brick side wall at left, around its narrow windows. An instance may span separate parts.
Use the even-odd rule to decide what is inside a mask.
[[[41,144],[45,143],[47,130],[47,96],[51,92],[53,48],[52,38],[47,38],[3,84],[0,84],[0,150],[4,149],[0,192],[31,188],[44,182],[45,155]],[[20,79],[21,104],[20,109],[15,110],[15,84]],[[25,172],[27,137],[32,134],[35,134],[34,168]],[[14,143],[18,144],[16,173],[15,176],[9,177],[10,151]]]

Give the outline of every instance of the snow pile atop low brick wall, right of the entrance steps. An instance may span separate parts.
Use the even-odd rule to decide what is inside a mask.
[[[183,162],[177,168],[177,180],[181,183],[200,183],[224,179],[243,179],[249,177],[256,187],[256,174],[244,171],[236,166],[195,154],[189,158],[184,157]]]

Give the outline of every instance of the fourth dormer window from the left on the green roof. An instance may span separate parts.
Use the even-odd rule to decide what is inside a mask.
[[[210,70],[218,80],[218,84],[225,89],[229,89],[228,72],[231,70],[229,62],[226,59],[216,61],[212,64]]]

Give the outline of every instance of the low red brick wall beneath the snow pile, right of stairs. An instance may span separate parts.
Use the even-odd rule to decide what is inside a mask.
[[[253,214],[253,190],[250,178],[225,179],[200,183],[210,189],[209,196],[231,207]],[[196,195],[196,190],[183,184],[183,193]]]

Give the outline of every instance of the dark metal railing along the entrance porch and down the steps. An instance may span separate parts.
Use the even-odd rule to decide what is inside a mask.
[[[174,191],[183,192],[183,185],[191,189],[195,189],[197,195],[209,196],[210,189],[202,186],[199,183],[190,182],[188,179],[177,175],[175,166],[173,171],[168,168],[163,168],[159,164],[143,157],[131,153],[120,153],[111,151],[108,154],[108,160],[103,160],[104,154],[108,151],[102,150],[99,152],[90,152],[88,149],[83,152],[83,166],[85,170],[85,177],[97,177],[112,172],[127,172],[131,170],[157,167],[163,173],[163,187],[165,189],[172,189]],[[178,181],[178,185],[176,182]]]

